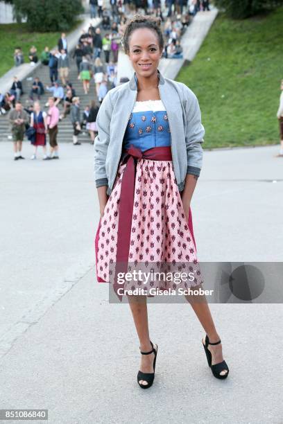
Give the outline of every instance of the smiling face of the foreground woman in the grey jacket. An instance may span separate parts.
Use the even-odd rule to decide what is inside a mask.
[[[130,35],[128,56],[137,75],[153,75],[162,56],[155,31],[149,28],[136,29]]]

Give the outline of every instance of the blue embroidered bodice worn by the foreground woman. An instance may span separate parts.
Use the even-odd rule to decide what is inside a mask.
[[[165,110],[132,112],[123,138],[123,146],[135,145],[141,151],[171,145],[168,116]]]

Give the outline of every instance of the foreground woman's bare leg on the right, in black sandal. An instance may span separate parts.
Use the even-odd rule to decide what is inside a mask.
[[[194,309],[200,324],[203,326],[203,329],[209,338],[209,342],[218,342],[220,337],[216,331],[205,294],[201,296],[186,296],[186,299],[191,304],[191,308]],[[203,337],[203,343],[205,343],[205,337]],[[212,353],[212,365],[223,361],[221,343],[216,344],[215,346],[209,344],[208,349]],[[227,373],[227,371],[221,371],[222,376],[224,376],[225,373]]]

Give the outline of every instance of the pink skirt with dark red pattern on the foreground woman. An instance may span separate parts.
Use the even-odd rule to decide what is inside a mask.
[[[117,255],[121,182],[126,164],[120,161],[113,190],[96,231],[96,276],[109,282]],[[198,263],[189,209],[185,218],[172,161],[138,159],[131,222],[129,263]],[[202,281],[194,279],[190,287]]]

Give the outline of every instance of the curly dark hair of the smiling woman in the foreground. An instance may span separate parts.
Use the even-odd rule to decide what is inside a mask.
[[[160,17],[153,17],[151,15],[140,15],[136,14],[131,18],[128,18],[126,21],[126,28],[123,31],[123,37],[121,39],[121,44],[123,46],[124,52],[128,55],[130,53],[129,39],[130,35],[137,28],[149,28],[155,31],[158,43],[160,46],[160,50],[162,51],[164,48],[164,38],[162,35],[161,29],[161,19]]]

